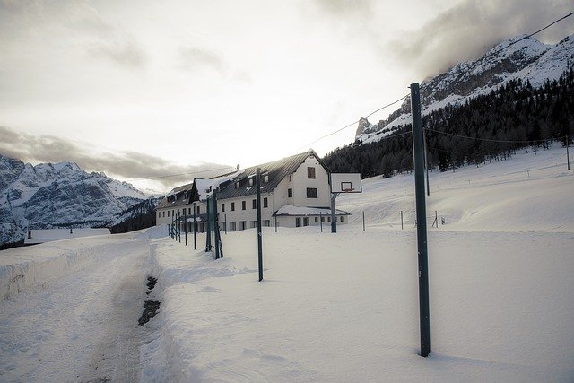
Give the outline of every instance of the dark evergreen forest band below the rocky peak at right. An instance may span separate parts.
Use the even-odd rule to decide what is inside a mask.
[[[558,81],[534,88],[520,79],[489,94],[449,105],[422,118],[429,169],[445,171],[463,165],[509,159],[517,149],[566,144],[574,133],[574,66]],[[413,170],[411,124],[397,126],[384,139],[360,140],[326,154],[333,172],[360,172],[361,178],[391,177]],[[470,137],[470,138],[468,138]]]

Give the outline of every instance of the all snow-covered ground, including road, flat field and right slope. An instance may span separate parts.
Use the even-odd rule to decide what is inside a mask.
[[[558,146],[431,173],[429,358],[400,176],[339,197],[337,234],[265,228],[262,283],[254,230],[218,261],[165,227],[3,251],[0,380],[572,381],[573,174]]]

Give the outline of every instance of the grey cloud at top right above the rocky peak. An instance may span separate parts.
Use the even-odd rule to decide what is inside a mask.
[[[572,11],[571,0],[465,0],[420,29],[404,32],[384,51],[391,52],[396,64],[409,65],[423,77],[439,74],[482,56],[504,39],[532,33]],[[555,43],[572,33],[570,18],[535,37]]]

